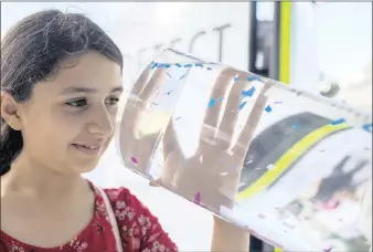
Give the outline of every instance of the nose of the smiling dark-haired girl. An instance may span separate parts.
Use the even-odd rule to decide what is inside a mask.
[[[88,132],[102,138],[114,134],[115,114],[110,114],[105,106],[92,109]]]

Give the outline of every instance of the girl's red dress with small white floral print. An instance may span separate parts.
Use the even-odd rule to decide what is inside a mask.
[[[124,252],[174,252],[175,244],[158,219],[128,189],[104,189],[121,237]],[[0,251],[12,252],[116,252],[116,241],[103,197],[95,189],[95,214],[90,223],[64,245],[44,249],[25,244],[1,231]]]

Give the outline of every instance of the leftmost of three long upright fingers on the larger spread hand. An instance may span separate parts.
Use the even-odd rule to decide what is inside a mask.
[[[215,129],[217,128],[219,124],[219,115],[222,108],[222,102],[219,99],[225,96],[226,90],[236,73],[237,72],[233,69],[224,69],[216,78],[216,82],[210,95],[210,101],[212,101],[214,105],[209,106],[206,109],[201,130],[201,140],[206,137],[214,137],[214,133],[216,132]]]

